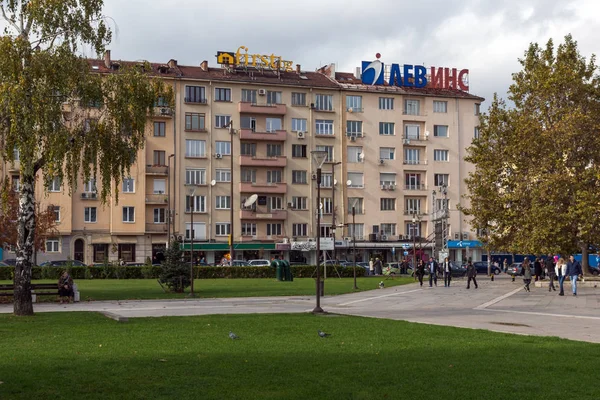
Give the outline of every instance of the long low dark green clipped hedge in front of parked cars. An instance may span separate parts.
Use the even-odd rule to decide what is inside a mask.
[[[294,265],[290,267],[296,278],[310,278],[316,276],[314,265]],[[94,267],[69,267],[66,268],[73,279],[156,279],[160,275],[160,266],[119,266],[106,265]],[[33,279],[58,280],[65,267],[33,267]],[[338,266],[342,277],[352,277],[352,268]],[[335,271],[327,268],[329,276],[337,276]],[[323,270],[321,269],[321,274]],[[356,268],[356,275],[363,276],[364,270]],[[13,280],[14,267],[0,267],[0,280]],[[275,268],[271,267],[194,267],[196,279],[214,278],[275,278]]]

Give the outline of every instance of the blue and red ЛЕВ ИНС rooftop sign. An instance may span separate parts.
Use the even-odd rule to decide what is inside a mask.
[[[389,81],[385,82],[385,65],[379,61],[381,54],[376,54],[375,61],[362,62],[362,82],[365,85],[385,85],[404,87],[432,87],[436,89],[460,89],[469,91],[469,70],[456,68],[431,67],[429,76],[427,68],[422,65],[392,64],[389,67]]]

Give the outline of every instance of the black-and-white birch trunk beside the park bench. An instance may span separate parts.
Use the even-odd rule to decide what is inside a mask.
[[[33,315],[31,300],[31,258],[35,234],[35,175],[21,175],[17,220],[17,264],[15,265],[14,314]]]

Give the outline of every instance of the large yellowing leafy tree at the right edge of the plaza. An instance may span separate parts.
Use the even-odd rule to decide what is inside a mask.
[[[598,243],[600,79],[568,35],[557,48],[531,44],[509,99],[494,97],[466,160],[464,212],[492,248],[569,254]]]

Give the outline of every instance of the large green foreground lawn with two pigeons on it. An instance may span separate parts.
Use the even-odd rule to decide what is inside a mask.
[[[383,319],[39,313],[0,337],[3,400],[598,399],[600,345]]]

